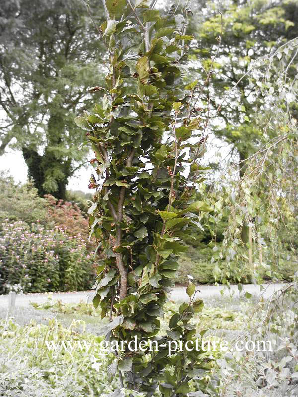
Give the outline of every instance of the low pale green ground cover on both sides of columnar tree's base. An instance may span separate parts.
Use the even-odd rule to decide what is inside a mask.
[[[280,308],[274,311],[271,311],[276,305],[274,297],[269,306],[269,302],[262,300],[236,297],[216,297],[206,302],[202,313],[194,316],[197,334],[208,325],[210,329],[204,339],[233,341],[237,337],[248,340],[253,335],[263,336],[273,341],[273,351],[209,352],[213,365],[198,372],[190,384],[190,397],[297,396],[297,310],[293,306],[297,295],[294,287],[291,288],[292,297],[284,296],[284,301],[280,299]],[[168,321],[178,306],[179,303],[166,303],[165,315],[160,318],[162,331],[167,330]],[[85,302],[64,304],[49,299],[37,307],[48,308],[65,317],[76,313],[100,316],[99,308],[94,309]],[[33,314],[33,319],[27,320],[29,324],[19,326],[18,314],[14,316],[15,319],[4,317],[0,320],[1,396],[107,397],[114,392],[122,396],[118,373],[111,377],[113,355],[98,354],[98,344],[103,337],[84,331],[83,321],[74,320],[66,327],[53,319],[47,325],[41,325],[35,322]],[[101,321],[97,323],[100,329]],[[55,350],[45,343],[57,340],[69,341],[75,347],[71,349],[67,344],[67,348]],[[86,345],[82,348],[75,345],[83,341]],[[153,396],[159,397],[158,391]]]

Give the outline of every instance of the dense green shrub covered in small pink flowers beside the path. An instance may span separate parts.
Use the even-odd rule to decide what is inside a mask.
[[[6,221],[0,226],[0,293],[74,291],[93,283],[92,258],[84,239],[64,229]]]

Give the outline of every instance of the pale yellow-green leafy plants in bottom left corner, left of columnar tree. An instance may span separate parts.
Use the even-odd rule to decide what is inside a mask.
[[[81,326],[81,321],[69,328],[56,320],[48,325],[32,321],[22,327],[12,319],[0,321],[0,354],[5,357],[0,363],[1,396],[99,397],[113,390],[117,379],[108,380],[108,360],[97,348],[102,337],[79,333]],[[50,346],[57,340],[81,342],[83,348],[55,351],[45,340]]]

